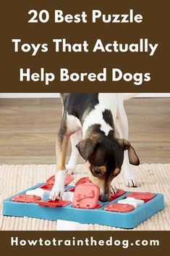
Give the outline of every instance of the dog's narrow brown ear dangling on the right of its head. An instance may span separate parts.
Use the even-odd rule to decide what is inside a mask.
[[[128,150],[129,163],[131,165],[140,165],[140,160],[137,157],[135,149],[131,146],[129,141],[127,141],[126,139],[119,139],[119,144],[121,144],[124,150]]]

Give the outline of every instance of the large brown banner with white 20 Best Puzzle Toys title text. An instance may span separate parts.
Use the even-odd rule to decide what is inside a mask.
[[[168,3],[2,1],[0,92],[168,92]],[[54,39],[62,40],[59,52]],[[93,51],[98,39],[104,51]]]

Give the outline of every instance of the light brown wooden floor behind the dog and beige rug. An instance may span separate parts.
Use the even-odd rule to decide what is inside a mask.
[[[130,99],[125,107],[140,162],[170,162],[170,98]],[[56,162],[60,117],[59,99],[0,99],[0,163]]]

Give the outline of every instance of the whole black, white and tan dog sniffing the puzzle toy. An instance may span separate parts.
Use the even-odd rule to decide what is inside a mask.
[[[106,202],[115,192],[113,179],[124,168],[127,186],[137,186],[131,165],[140,165],[128,139],[128,122],[124,94],[60,94],[63,104],[61,125],[56,139],[56,176],[50,199],[61,199],[66,173],[72,174],[78,154],[85,160],[90,182],[100,189]],[[119,138],[116,138],[116,130]],[[67,168],[65,160],[69,138],[72,154]]]

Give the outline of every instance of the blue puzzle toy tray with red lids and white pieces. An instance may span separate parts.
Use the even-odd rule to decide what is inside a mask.
[[[135,228],[164,208],[162,194],[121,189],[111,194],[108,202],[100,202],[100,191],[88,178],[81,178],[75,186],[69,186],[72,180],[73,177],[67,175],[62,200],[49,199],[54,176],[46,183],[39,183],[5,199],[3,215]]]

